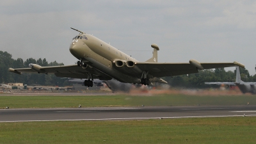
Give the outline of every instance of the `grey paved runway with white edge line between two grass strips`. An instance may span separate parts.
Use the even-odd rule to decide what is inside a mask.
[[[256,106],[0,109],[0,122],[256,116]]]

